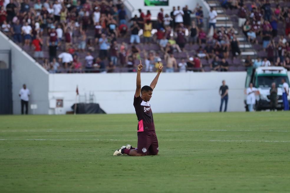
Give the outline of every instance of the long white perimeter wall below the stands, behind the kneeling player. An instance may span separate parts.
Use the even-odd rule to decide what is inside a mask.
[[[150,85],[155,73],[141,73],[141,84]],[[228,111],[244,111],[246,72],[162,73],[150,101],[153,112],[217,112],[221,81],[229,86]],[[136,73],[50,74],[49,99],[63,98],[64,113],[80,95],[94,92],[106,113],[135,113]],[[53,113],[54,111],[50,111]]]

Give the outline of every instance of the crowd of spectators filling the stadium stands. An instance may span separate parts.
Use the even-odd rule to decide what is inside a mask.
[[[276,9],[268,1],[222,1],[226,8],[238,10],[238,23],[248,41],[263,43],[269,63],[290,69],[290,9]],[[133,72],[139,59],[146,71],[156,71],[159,62],[167,72],[228,71],[229,62],[240,60],[239,41],[235,29],[215,28],[217,13],[211,9],[209,36],[202,7],[175,7],[170,13],[163,9],[157,22],[150,11],[139,9],[129,18],[121,0],[1,0],[1,31],[51,73],[114,72],[124,68]],[[191,19],[195,14],[195,20]],[[285,24],[285,36],[277,36],[278,23]],[[208,23],[206,23],[208,25]],[[276,56],[276,52],[278,53]],[[48,53],[48,54],[45,54]],[[262,65],[263,63],[261,63]],[[254,65],[251,61],[247,67]],[[260,63],[256,64],[260,65]]]

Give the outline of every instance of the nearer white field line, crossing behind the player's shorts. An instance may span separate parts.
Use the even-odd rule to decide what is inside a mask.
[[[136,139],[0,139],[0,141],[137,141]],[[290,143],[290,141],[261,141],[261,140],[179,140],[164,139],[160,141],[189,141],[189,142],[265,142],[265,143]]]

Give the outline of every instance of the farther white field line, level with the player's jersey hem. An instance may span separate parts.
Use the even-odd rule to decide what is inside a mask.
[[[228,130],[228,129],[165,129],[156,130],[157,132],[178,132],[178,131],[191,131],[191,132],[290,132],[283,130]],[[3,130],[0,132],[133,132],[128,130]]]

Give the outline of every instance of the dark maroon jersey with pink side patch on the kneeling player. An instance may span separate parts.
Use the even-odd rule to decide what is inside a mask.
[[[134,95],[133,103],[138,118],[138,132],[155,130],[153,114],[149,101],[145,102],[141,96]]]

